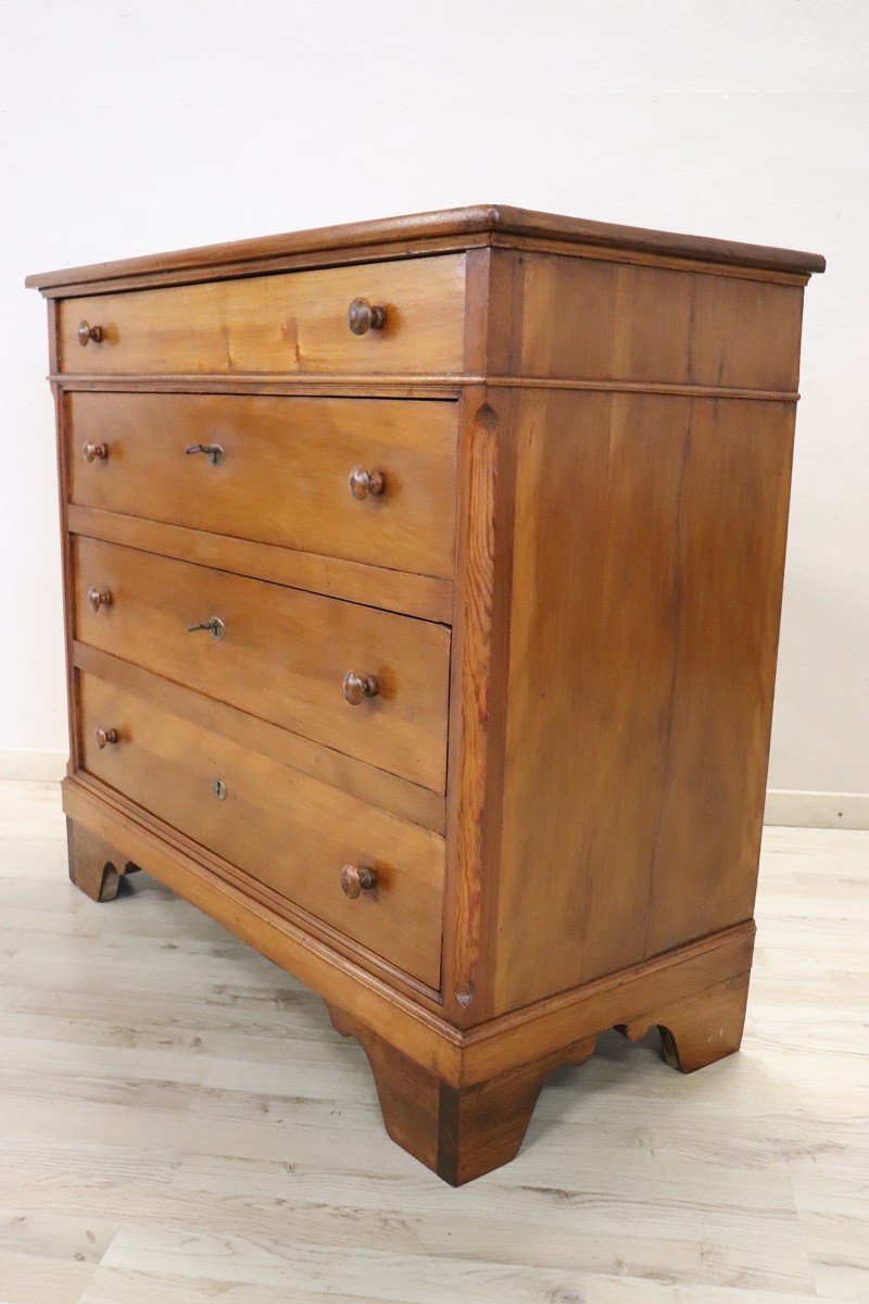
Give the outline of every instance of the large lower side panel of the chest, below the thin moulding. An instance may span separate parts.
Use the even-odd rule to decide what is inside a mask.
[[[495,1013],[752,914],[795,408],[513,413]]]

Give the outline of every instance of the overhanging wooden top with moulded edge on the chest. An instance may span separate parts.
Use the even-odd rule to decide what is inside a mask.
[[[350,222],[344,226],[292,231],[287,235],[261,236],[231,244],[203,245],[198,249],[178,249],[173,253],[96,262],[83,267],[64,267],[59,271],[44,271],[27,276],[25,284],[31,289],[47,289],[65,284],[117,280],[149,273],[218,269],[225,263],[261,262],[288,254],[322,253],[330,249],[354,249],[369,244],[391,244],[433,237],[455,237],[456,246],[461,248],[464,236],[487,232],[533,236],[541,240],[550,239],[605,249],[720,262],[735,267],[754,267],[797,275],[812,275],[812,273],[823,271],[826,267],[826,259],[821,254],[801,253],[796,249],[776,249],[735,240],[677,235],[672,231],[648,231],[642,227],[621,227],[608,222],[590,222],[585,218],[534,213],[530,209],[513,209],[500,203],[479,203],[464,209],[443,209],[439,213],[414,213],[399,218],[379,218],[374,222]]]

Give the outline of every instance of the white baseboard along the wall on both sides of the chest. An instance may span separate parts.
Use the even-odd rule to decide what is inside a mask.
[[[65,751],[0,747],[0,778],[59,782],[66,773]],[[803,793],[770,788],[765,824],[793,828],[869,829],[869,793]]]

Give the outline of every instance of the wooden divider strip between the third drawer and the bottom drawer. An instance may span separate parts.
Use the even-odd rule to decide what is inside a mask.
[[[332,747],[313,742],[86,643],[73,643],[73,664],[86,674],[98,675],[117,687],[135,692],[172,715],[190,720],[205,729],[212,729],[242,747],[292,769],[300,769],[399,819],[420,824],[435,833],[443,835],[446,831],[446,798],[427,788],[378,769],[363,760],[345,756]]]

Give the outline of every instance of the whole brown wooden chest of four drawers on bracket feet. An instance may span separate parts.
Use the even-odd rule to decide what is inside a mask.
[[[70,876],[319,992],[451,1183],[607,1028],[739,1046],[821,270],[474,207],[29,280]]]

